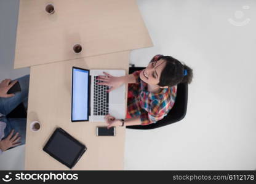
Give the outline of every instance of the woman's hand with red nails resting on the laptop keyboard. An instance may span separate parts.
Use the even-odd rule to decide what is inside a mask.
[[[110,86],[110,90],[107,92],[113,91],[116,88],[119,88],[124,83],[124,77],[114,77],[106,72],[103,72],[105,75],[98,76],[97,80],[101,82],[97,83],[98,85]]]

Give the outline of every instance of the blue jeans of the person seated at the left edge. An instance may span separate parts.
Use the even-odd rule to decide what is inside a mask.
[[[6,123],[6,129],[4,129],[4,139],[10,134],[10,131],[14,129],[15,132],[19,133],[20,142],[25,144],[26,140],[26,118],[6,118],[12,110],[14,110],[20,103],[23,102],[24,107],[28,108],[28,87],[30,84],[30,75],[25,75],[17,79],[20,83],[22,91],[15,93],[15,96],[10,98],[0,98],[0,121]]]

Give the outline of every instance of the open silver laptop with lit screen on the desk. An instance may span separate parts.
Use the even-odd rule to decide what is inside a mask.
[[[107,114],[117,119],[124,119],[126,105],[125,85],[110,91],[105,85],[97,85],[98,75],[103,72],[115,77],[124,76],[124,70],[102,70],[72,68],[72,99],[71,99],[71,121],[105,121]]]

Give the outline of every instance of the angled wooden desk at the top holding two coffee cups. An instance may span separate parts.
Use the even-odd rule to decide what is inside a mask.
[[[20,0],[14,68],[151,46],[136,0]]]

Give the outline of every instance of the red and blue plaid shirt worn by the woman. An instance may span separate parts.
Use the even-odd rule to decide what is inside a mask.
[[[140,72],[142,71],[133,73],[137,83],[128,85],[127,113],[130,117],[140,117],[142,125],[149,125],[164,118],[172,109],[177,85],[164,88],[159,93],[149,92],[148,84],[140,79]]]

